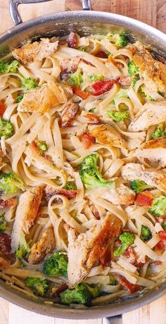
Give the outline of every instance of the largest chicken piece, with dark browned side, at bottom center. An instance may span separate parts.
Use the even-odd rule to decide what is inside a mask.
[[[108,215],[98,220],[87,232],[68,230],[68,285],[70,288],[87,277],[95,261],[105,254],[108,245],[120,235],[122,221]]]

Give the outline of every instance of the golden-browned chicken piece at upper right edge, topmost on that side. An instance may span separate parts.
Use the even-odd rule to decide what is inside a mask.
[[[139,67],[144,78],[146,89],[151,92],[165,92],[166,90],[166,66],[156,61],[148,51],[134,54],[133,61]]]

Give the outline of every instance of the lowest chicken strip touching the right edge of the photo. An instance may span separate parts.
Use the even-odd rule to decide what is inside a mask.
[[[160,171],[146,170],[141,164],[127,163],[122,166],[122,177],[125,180],[143,180],[148,185],[166,192],[166,175]]]

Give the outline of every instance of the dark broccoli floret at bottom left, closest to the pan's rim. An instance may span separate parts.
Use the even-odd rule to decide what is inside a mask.
[[[35,294],[44,296],[49,289],[49,280],[28,277],[26,278],[26,286],[32,288]]]

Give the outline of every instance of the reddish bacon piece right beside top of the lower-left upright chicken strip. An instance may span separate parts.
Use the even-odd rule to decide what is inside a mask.
[[[49,201],[49,199],[51,199],[51,197],[53,197],[54,194],[62,194],[68,199],[75,198],[75,196],[77,196],[78,190],[72,190],[72,189],[68,190],[64,188],[54,189],[49,186],[46,186],[44,192],[45,192],[46,201]]]

